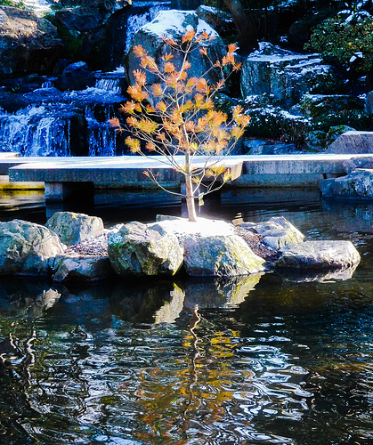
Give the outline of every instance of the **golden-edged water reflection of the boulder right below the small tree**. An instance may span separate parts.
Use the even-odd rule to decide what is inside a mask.
[[[259,282],[262,274],[255,273],[235,279],[191,279],[185,283],[185,306],[226,307],[242,303]]]

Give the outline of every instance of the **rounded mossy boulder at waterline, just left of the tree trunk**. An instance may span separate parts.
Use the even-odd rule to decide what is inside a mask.
[[[124,277],[172,276],[182,266],[177,238],[157,223],[127,223],[109,233],[108,255],[114,271]]]

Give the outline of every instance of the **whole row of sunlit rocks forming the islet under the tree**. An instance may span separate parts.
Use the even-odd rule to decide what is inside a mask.
[[[283,217],[235,226],[158,215],[155,223],[105,229],[101,218],[57,212],[45,226],[0,223],[0,276],[55,282],[190,277],[234,278],[265,271],[353,271],[350,241],[307,241]],[[341,276],[348,276],[341,273]]]

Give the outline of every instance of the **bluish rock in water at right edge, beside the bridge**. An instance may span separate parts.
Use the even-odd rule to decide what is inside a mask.
[[[373,199],[373,170],[359,168],[346,176],[320,182],[323,196],[340,199]]]

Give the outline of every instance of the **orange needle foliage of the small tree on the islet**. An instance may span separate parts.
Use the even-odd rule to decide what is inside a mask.
[[[134,70],[134,85],[127,89],[131,100],[121,107],[127,116],[126,125],[122,127],[118,119],[111,120],[118,130],[132,133],[126,138],[132,152],[142,154],[142,148],[146,148],[166,156],[187,152],[215,156],[231,150],[244,134],[250,117],[237,106],[229,120],[214,104],[215,93],[226,84],[230,72],[240,68],[235,61],[237,46],[230,44],[221,61],[211,61],[207,42],[212,39],[206,32],[196,36],[193,29],[185,32],[181,43],[165,37],[170,52],[163,55],[159,65],[142,45],[134,46],[140,69]],[[215,84],[210,84],[204,76],[188,75],[191,69],[188,59],[196,50],[210,61],[211,69],[220,78]],[[176,53],[182,57],[174,57]],[[150,76],[156,77],[156,81],[148,85]]]

